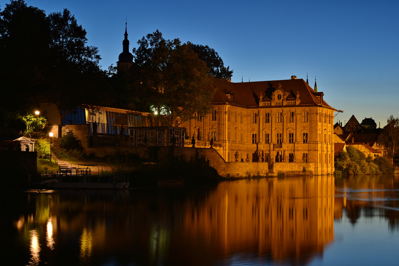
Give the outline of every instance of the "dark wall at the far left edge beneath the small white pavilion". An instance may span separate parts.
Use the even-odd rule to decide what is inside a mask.
[[[36,172],[37,156],[37,152],[0,150],[0,176]]]

